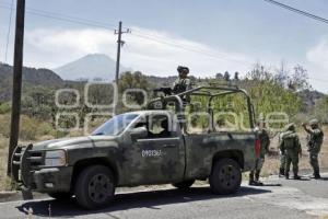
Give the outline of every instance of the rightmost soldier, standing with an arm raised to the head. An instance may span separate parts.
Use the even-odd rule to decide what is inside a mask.
[[[302,124],[304,130],[308,134],[307,136],[307,150],[309,152],[309,163],[313,168],[314,178],[320,178],[318,154],[321,149],[324,141],[324,132],[319,128],[319,122],[317,119],[312,119],[309,122],[309,128],[306,124]]]

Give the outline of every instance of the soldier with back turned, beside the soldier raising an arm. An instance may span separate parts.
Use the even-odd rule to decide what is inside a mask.
[[[302,154],[302,148],[294,124],[289,124],[286,126],[286,131],[282,134],[279,148],[281,152],[285,154],[285,178],[288,180],[290,177],[290,168],[291,164],[293,164],[294,180],[300,180],[301,177],[298,176],[298,155]]]

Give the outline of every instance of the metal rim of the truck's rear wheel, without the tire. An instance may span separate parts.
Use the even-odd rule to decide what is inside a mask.
[[[233,188],[238,181],[238,171],[233,165],[223,165],[219,172],[219,182],[224,188]]]

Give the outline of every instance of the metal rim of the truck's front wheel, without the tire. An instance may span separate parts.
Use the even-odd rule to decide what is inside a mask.
[[[113,184],[105,174],[94,175],[89,183],[89,197],[95,203],[104,203],[112,195]]]

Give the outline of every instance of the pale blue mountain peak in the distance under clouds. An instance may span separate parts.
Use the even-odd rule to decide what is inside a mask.
[[[115,79],[116,61],[104,54],[86,55],[78,60],[54,69],[65,80]],[[130,69],[120,66],[120,72]]]

